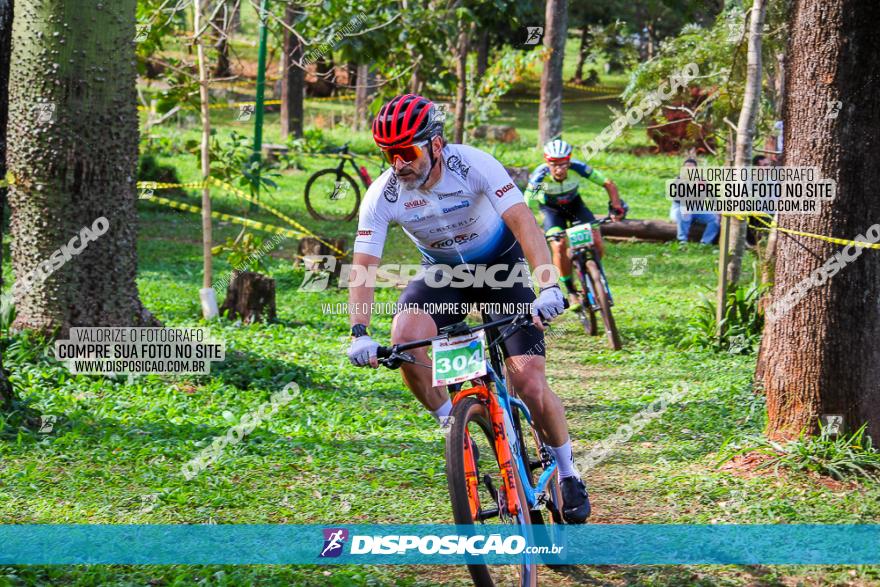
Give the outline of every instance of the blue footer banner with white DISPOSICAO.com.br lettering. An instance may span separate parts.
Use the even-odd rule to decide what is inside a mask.
[[[0,565],[880,564],[880,525],[0,525]]]

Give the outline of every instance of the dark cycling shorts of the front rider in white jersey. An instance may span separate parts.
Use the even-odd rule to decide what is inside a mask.
[[[493,266],[497,268],[498,265],[505,267],[493,272],[491,268]],[[475,273],[478,267],[480,266],[474,266]],[[531,273],[519,243],[495,259],[493,263],[488,263],[483,267],[489,269],[488,272],[484,271],[484,275],[486,273],[493,274],[494,280],[502,283],[510,281],[510,284],[503,287],[492,287],[486,285],[485,280],[483,283],[477,280],[469,287],[452,287],[451,284],[435,287],[430,284],[441,283],[441,273],[448,274],[449,267],[426,266],[426,275],[410,281],[403,293],[400,294],[400,298],[397,300],[399,309],[418,307],[431,314],[434,324],[437,325],[437,330],[463,321],[471,309],[485,310],[492,320],[520,313],[531,313],[535,292],[532,289],[531,281],[524,283],[525,280],[521,278],[522,276],[530,276]],[[457,268],[453,267],[453,269]],[[444,311],[436,311],[438,306],[445,306]],[[505,340],[502,348],[505,358],[517,355],[543,357],[544,333],[538,330],[534,324],[530,324]]]

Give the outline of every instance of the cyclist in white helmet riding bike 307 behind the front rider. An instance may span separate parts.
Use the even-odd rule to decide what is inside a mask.
[[[570,175],[569,170],[605,188],[608,192],[608,211],[613,220],[621,220],[626,216],[626,203],[620,199],[614,182],[602,175],[598,169],[593,169],[583,161],[572,159],[571,150],[571,145],[562,139],[548,142],[544,145],[546,163],[535,168],[529,176],[525,196],[527,200],[534,199],[540,204],[546,236],[562,232],[571,226],[596,221],[596,217],[578,194],[580,177]],[[601,257],[602,239],[597,228],[593,229],[593,239],[596,243],[596,253]],[[553,264],[561,275],[560,281],[565,284],[574,306],[579,302],[571,279],[568,243],[564,239],[553,241],[550,249],[553,252]]]

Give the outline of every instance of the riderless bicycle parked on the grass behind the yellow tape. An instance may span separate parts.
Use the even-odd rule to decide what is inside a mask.
[[[346,173],[345,162],[351,163],[355,175],[364,184],[364,188],[370,187],[373,179],[365,166],[355,162],[348,143],[330,150],[329,153],[339,155],[339,165],[312,174],[306,183],[306,209],[316,220],[348,222],[357,216],[361,204],[361,191],[354,178]]]

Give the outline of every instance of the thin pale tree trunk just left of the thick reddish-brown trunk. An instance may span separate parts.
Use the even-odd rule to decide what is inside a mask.
[[[761,34],[764,29],[765,0],[755,0],[749,13],[749,49],[746,61],[746,87],[743,105],[736,125],[736,158],[734,166],[752,164],[752,142],[755,137],[755,116],[761,100]],[[735,285],[742,273],[742,258],[746,248],[747,224],[736,218],[730,220],[730,260],[727,263],[727,281]]]

